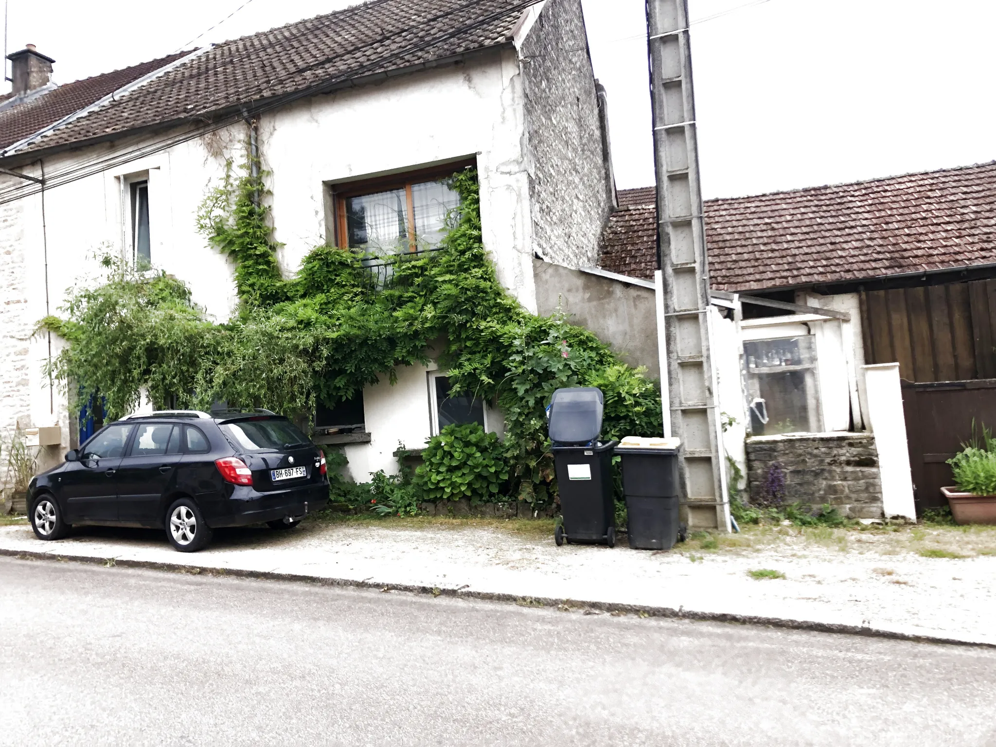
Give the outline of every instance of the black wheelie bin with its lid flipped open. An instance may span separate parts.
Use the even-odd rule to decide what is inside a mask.
[[[554,531],[558,545],[567,540],[616,546],[612,459],[617,442],[599,443],[604,401],[594,386],[557,389],[550,400],[551,451],[564,517]]]

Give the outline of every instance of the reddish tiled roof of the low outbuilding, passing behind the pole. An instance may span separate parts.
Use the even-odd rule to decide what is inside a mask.
[[[603,267],[636,277],[652,274],[655,213],[632,205],[613,214]],[[705,235],[716,290],[996,263],[996,162],[707,200]]]

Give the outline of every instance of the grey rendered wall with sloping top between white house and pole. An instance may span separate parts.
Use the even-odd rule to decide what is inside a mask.
[[[653,289],[625,280],[533,260],[536,304],[541,315],[558,306],[570,321],[591,330],[630,366],[645,366],[647,376],[660,377],[657,320]]]

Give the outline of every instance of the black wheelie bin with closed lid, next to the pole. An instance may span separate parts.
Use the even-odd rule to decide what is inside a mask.
[[[670,550],[678,523],[677,438],[627,436],[616,447],[622,466],[626,536],[633,550]]]

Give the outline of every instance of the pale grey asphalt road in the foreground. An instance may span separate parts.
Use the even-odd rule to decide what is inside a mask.
[[[996,746],[988,649],[10,558],[0,591],[4,745]]]

